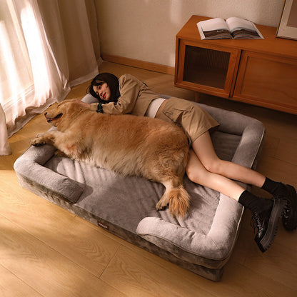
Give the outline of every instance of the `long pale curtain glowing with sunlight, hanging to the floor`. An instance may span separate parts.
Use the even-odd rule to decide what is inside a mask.
[[[101,58],[94,0],[0,0],[0,11],[3,155],[7,136],[96,76]]]

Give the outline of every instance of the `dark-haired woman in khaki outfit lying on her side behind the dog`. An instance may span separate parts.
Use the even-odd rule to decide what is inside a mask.
[[[218,158],[209,135],[209,130],[218,123],[198,104],[177,98],[161,99],[146,84],[129,74],[119,79],[113,74],[99,74],[91,81],[88,91],[99,101],[89,106],[93,111],[151,116],[181,125],[191,141],[186,167],[188,178],[230,196],[250,209],[258,228],[255,241],[262,252],[273,242],[279,216],[282,216],[283,226],[288,231],[297,228],[295,188]],[[254,196],[233,180],[263,188],[274,199]]]

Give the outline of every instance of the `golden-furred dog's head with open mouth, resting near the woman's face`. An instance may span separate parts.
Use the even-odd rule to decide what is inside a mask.
[[[49,124],[59,127],[63,122],[75,121],[76,116],[86,109],[88,106],[84,102],[76,99],[65,100],[45,112],[44,116]]]

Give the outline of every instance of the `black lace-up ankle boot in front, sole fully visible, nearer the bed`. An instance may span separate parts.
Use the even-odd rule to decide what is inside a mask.
[[[285,205],[286,201],[283,198],[274,201],[267,199],[267,203],[261,211],[252,213],[255,227],[258,228],[255,241],[262,252],[267,251],[273,243],[278,229],[278,218],[281,216]]]

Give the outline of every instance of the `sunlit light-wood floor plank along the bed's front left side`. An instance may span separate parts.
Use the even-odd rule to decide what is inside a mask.
[[[13,183],[13,178],[10,178]],[[111,238],[89,228],[69,211],[22,189],[0,181],[0,212],[10,221],[59,251],[79,266],[100,276],[119,247]],[[5,198],[4,198],[5,197]],[[19,216],[19,213],[26,215]]]

